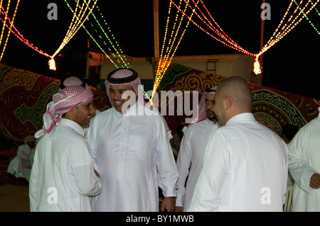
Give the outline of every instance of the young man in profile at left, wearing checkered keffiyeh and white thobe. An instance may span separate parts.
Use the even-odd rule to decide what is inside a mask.
[[[90,149],[82,125],[95,115],[93,93],[77,77],[61,81],[43,115],[45,128],[29,179],[31,211],[91,211],[89,196],[102,189],[99,174],[94,171]]]

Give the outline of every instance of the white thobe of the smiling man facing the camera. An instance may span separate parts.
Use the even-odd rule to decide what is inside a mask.
[[[176,196],[178,170],[158,113],[140,104],[125,114],[110,108],[92,120],[87,139],[103,186],[94,211],[158,211],[158,186],[165,197]]]

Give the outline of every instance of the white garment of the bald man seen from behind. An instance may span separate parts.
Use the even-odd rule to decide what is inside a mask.
[[[252,113],[213,131],[188,211],[282,211],[287,145]]]

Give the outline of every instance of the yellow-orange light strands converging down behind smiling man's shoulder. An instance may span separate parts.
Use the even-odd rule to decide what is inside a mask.
[[[181,5],[181,1],[180,1],[180,5]],[[181,23],[183,21],[183,17],[185,16],[186,9],[187,9],[187,6],[184,9],[184,13],[181,14],[181,20],[180,20],[180,22],[179,22],[179,24],[177,26],[176,33],[174,34],[174,28],[176,28],[176,23],[177,23],[177,20],[178,20],[178,12],[176,14],[174,27],[173,27],[172,32],[171,32],[171,38],[169,39],[170,47],[168,45],[168,47],[166,48],[166,54],[164,55],[165,43],[166,43],[168,27],[169,27],[169,20],[170,20],[170,14],[171,14],[171,1],[170,1],[168,18],[167,18],[167,21],[166,21],[166,30],[165,30],[165,35],[164,35],[164,43],[163,43],[162,49],[161,49],[161,57],[160,57],[159,62],[158,62],[158,68],[157,68],[157,71],[156,71],[156,78],[154,79],[154,89],[152,91],[150,100],[152,100],[152,98],[154,97],[156,89],[158,89],[159,84],[161,82],[161,79],[164,77],[164,73],[166,72],[166,69],[168,69],[168,67],[169,67],[169,65],[171,63],[171,60],[174,57],[174,54],[176,53],[176,50],[178,49],[178,45],[180,45],[181,40],[183,38],[183,35],[186,33],[186,28],[188,28],[188,24],[190,23],[190,20],[188,20],[188,22],[186,23],[186,28],[183,30],[180,38],[178,38],[176,47],[174,48],[174,51],[171,53],[171,51],[172,51],[172,49],[174,47],[174,43],[175,43],[175,41],[177,39],[178,30],[180,30]],[[194,13],[194,11],[192,11],[191,17],[193,16],[193,13]],[[174,36],[174,38],[173,38],[173,36]]]

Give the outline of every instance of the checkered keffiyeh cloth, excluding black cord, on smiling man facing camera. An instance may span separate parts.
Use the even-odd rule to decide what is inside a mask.
[[[124,78],[132,76],[133,74],[134,74],[134,72],[132,72],[129,69],[125,69],[124,68],[124,69],[117,70],[117,72],[114,72],[114,74],[112,74],[111,77],[113,79],[124,79]],[[107,95],[108,95],[109,99],[110,99],[110,86],[120,86],[120,85],[121,86],[124,86],[124,85],[132,86],[134,91],[137,94],[139,94],[138,95],[138,103],[142,104],[143,106],[148,106],[151,110],[156,111],[157,113],[159,113],[158,109],[154,108],[154,106],[151,106],[150,103],[146,103],[146,101],[144,101],[144,91],[142,90],[141,80],[139,79],[139,77],[137,77],[137,79],[134,79],[134,81],[129,81],[129,82],[126,82],[126,83],[121,83],[121,84],[110,83],[110,81],[108,81],[106,79],[105,80],[105,87],[106,87],[106,91],[107,91]],[[110,101],[110,103],[112,104],[112,101]],[[161,114],[159,113],[159,115],[161,115]],[[168,124],[166,123],[166,120],[164,119],[164,117],[162,115],[161,115],[161,119],[164,121],[164,125],[166,126],[166,132],[167,132],[169,140],[170,140],[172,138],[171,130],[170,130]]]

